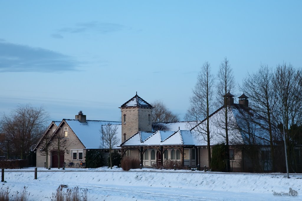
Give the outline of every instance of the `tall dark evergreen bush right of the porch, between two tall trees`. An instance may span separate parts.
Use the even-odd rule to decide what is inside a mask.
[[[212,171],[226,171],[225,159],[226,146],[224,143],[217,144],[213,146],[212,158],[211,158],[211,168]]]

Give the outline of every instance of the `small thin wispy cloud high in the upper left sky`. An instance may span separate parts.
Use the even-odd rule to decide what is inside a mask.
[[[78,23],[75,27],[64,27],[58,30],[58,33],[82,33],[88,31],[96,31],[99,33],[110,33],[123,30],[124,25],[115,23],[102,23],[102,22],[86,22]]]

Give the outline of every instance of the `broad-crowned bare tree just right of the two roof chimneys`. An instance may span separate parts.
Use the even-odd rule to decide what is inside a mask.
[[[258,114],[254,122],[269,133],[272,170],[275,171],[273,121],[271,111],[274,110],[277,96],[273,85],[273,72],[267,65],[261,64],[260,69],[254,74],[247,74],[243,79],[241,90],[249,96],[251,108]],[[258,119],[256,119],[258,117]]]

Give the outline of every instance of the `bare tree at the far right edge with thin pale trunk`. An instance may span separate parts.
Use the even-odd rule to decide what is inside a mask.
[[[295,163],[294,140],[302,121],[302,87],[299,86],[300,71],[291,64],[279,64],[275,70],[274,86],[278,95],[277,108],[284,122],[285,142],[288,144],[288,161]],[[280,119],[279,118],[279,119]],[[292,129],[291,129],[292,128]],[[289,160],[289,157],[292,157]],[[289,164],[292,165],[291,163]],[[294,167],[291,167],[294,169]]]

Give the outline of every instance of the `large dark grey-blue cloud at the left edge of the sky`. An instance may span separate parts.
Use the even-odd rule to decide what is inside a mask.
[[[76,66],[71,57],[58,52],[0,42],[0,73],[76,71]]]

